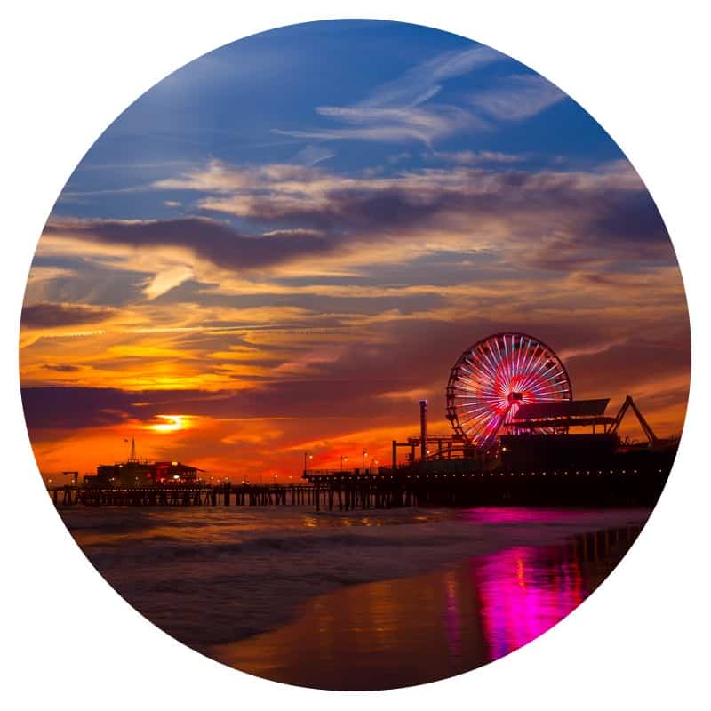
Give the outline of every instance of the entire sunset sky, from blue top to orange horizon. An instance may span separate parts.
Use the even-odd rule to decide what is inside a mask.
[[[504,330],[554,348],[576,398],[680,432],[681,277],[603,129],[459,36],[282,28],[165,78],[76,167],[28,278],[29,433],[44,475],[131,437],[235,479],[387,464],[420,397],[450,433],[451,365]]]

